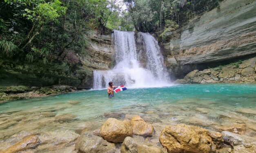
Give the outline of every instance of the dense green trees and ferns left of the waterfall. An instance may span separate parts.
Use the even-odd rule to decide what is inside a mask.
[[[86,51],[87,31],[106,33],[122,20],[112,0],[4,0],[0,55],[16,61],[73,63],[73,55]]]

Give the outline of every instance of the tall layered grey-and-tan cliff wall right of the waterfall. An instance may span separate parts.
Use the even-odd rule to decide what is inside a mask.
[[[256,53],[256,1],[225,0],[174,31],[165,48],[170,74],[182,78],[195,69]],[[246,70],[252,72],[252,69]],[[246,74],[246,72],[243,72]]]

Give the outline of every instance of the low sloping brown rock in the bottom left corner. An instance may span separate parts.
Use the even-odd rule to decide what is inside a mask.
[[[18,153],[19,151],[25,151],[27,149],[35,148],[40,144],[38,136],[26,136],[16,144],[13,144],[9,148],[0,151],[0,153]]]

